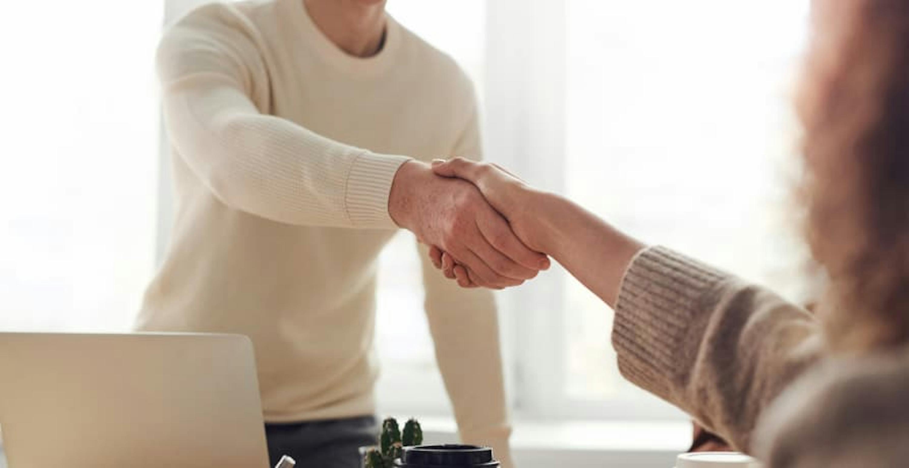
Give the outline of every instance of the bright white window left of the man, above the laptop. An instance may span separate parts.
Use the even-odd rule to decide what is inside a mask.
[[[0,330],[125,330],[154,268],[158,2],[9,2]]]

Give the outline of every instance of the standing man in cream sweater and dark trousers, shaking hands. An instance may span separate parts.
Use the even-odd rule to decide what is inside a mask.
[[[271,456],[358,466],[377,431],[375,264],[395,229],[485,286],[548,266],[472,184],[425,164],[480,154],[473,88],[384,0],[207,5],[157,60],[179,203],[137,328],[248,335]],[[493,296],[424,269],[461,438],[511,466]]]

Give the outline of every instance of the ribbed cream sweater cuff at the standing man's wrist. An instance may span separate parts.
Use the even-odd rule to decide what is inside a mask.
[[[354,227],[397,227],[388,214],[388,194],[398,168],[410,159],[368,151],[357,156],[347,174],[345,190],[347,216]]]

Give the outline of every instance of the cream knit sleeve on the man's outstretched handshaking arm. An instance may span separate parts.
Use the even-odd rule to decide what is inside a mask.
[[[224,204],[285,224],[393,228],[388,194],[408,158],[374,154],[267,115],[257,32],[230,9],[187,17],[157,54],[175,151]],[[217,21],[215,21],[215,18]]]

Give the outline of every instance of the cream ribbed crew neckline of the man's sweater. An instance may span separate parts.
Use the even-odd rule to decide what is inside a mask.
[[[400,48],[401,30],[395,19],[385,13],[385,44],[375,55],[358,57],[347,54],[319,29],[306,10],[304,0],[281,0],[286,5],[287,19],[293,23],[294,32],[305,40],[326,63],[355,76],[375,76],[385,72],[394,63]]]

